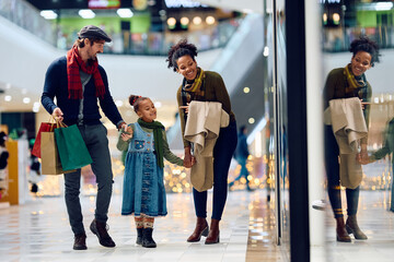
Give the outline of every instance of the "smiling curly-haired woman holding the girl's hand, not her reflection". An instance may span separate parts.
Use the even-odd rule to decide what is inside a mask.
[[[171,47],[166,61],[169,68],[173,68],[184,76],[176,97],[179,106],[179,118],[182,133],[185,132],[187,121],[188,104],[192,100],[219,102],[222,108],[230,115],[230,123],[227,128],[221,128],[219,138],[213,148],[213,206],[210,229],[206,221],[207,217],[207,191],[198,192],[193,189],[193,198],[197,216],[196,228],[188,242],[199,241],[201,236],[207,236],[205,243],[219,242],[219,222],[221,219],[227,193],[228,175],[231,157],[236,146],[236,122],[234,114],[231,111],[230,97],[227,92],[222,78],[211,71],[204,71],[197,67],[197,48],[187,40],[181,40]],[[190,143],[183,140],[185,147],[185,166],[192,164]],[[209,231],[209,234],[208,234]]]

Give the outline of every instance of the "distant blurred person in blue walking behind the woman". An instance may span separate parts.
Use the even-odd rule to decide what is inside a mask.
[[[241,165],[241,171],[240,171],[240,176],[237,176],[234,179],[234,181],[230,182],[229,187],[231,188],[232,186],[234,186],[235,181],[237,181],[242,177],[244,177],[246,179],[246,189],[248,191],[252,191],[251,186],[248,184],[248,180],[247,180],[248,171],[246,168],[246,160],[250,155],[250,152],[247,148],[246,134],[247,134],[246,127],[241,126],[240,131],[239,131],[237,144],[236,144],[236,148],[234,152],[234,158]]]

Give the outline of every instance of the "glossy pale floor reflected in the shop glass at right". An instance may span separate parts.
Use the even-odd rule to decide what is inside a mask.
[[[387,210],[386,191],[361,191],[358,224],[368,240],[335,241],[335,221],[327,211],[326,254],[329,262],[393,262],[394,213]],[[346,203],[343,205],[346,207]]]

